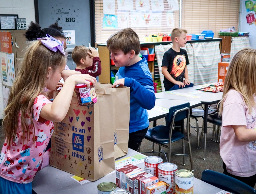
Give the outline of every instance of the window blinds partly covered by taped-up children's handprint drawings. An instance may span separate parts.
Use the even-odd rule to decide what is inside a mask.
[[[151,8],[151,1],[150,8]],[[179,27],[180,22],[180,11],[173,11],[174,16],[174,27],[167,27],[167,18],[166,13],[167,10],[170,10],[170,6],[167,0],[163,0],[164,2],[164,11],[162,11],[162,21],[161,27],[141,27],[134,28],[133,30],[138,34],[141,41],[144,41],[143,36],[145,34],[157,34],[157,32],[167,32],[168,34],[172,31],[172,29]],[[178,0],[179,3],[179,0]],[[134,0],[134,10],[135,10],[135,0]],[[117,1],[115,1],[115,15],[117,15]],[[118,29],[105,29],[102,26],[103,23],[103,0],[95,0],[95,36],[97,43],[105,43],[107,39],[119,31],[122,28]],[[129,27],[131,27],[131,16],[129,14]]]

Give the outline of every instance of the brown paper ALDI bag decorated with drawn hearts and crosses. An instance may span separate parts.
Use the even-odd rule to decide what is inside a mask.
[[[50,165],[91,181],[115,169],[111,95],[80,106],[76,93],[66,117],[55,123]],[[104,124],[104,125],[103,125]]]

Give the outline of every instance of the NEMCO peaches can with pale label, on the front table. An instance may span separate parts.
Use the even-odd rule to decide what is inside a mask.
[[[189,193],[193,194],[194,186],[194,173],[190,170],[177,170],[176,171],[176,194]]]

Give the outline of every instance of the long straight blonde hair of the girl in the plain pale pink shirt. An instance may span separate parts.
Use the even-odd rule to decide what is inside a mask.
[[[244,98],[250,113],[256,107],[256,50],[244,48],[239,50],[231,60],[225,78],[222,100],[219,102],[219,115],[222,115],[223,102],[231,89],[238,91]]]

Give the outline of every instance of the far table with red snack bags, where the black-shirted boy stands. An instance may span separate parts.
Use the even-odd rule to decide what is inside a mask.
[[[169,100],[187,100],[187,101],[201,101],[202,104],[204,104],[204,160],[205,158],[205,151],[206,151],[206,134],[207,134],[207,116],[208,116],[208,105],[216,104],[222,99],[223,92],[200,92],[196,93],[196,89],[199,88],[199,86],[193,86],[190,88],[182,88],[179,90],[174,90],[171,92],[178,92],[178,93],[192,93],[192,96],[181,96],[177,94],[171,94],[168,92],[160,92],[156,93],[157,99],[169,99]],[[200,148],[200,147],[199,147]]]

